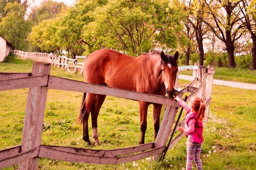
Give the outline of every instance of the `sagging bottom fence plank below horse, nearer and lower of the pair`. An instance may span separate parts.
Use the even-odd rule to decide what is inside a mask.
[[[150,151],[144,151],[136,155],[129,155],[123,157],[106,157],[106,156],[88,156],[73,154],[70,152],[64,152],[59,150],[54,150],[52,148],[47,148],[44,146],[40,147],[39,156],[43,158],[62,160],[66,162],[73,163],[90,163],[90,164],[118,164],[131,162],[138,159],[147,158],[155,154],[160,154],[163,151],[164,147],[155,148]]]

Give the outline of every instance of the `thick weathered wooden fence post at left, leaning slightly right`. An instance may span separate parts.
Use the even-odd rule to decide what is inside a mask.
[[[33,75],[49,75],[51,64],[35,62]],[[27,107],[24,117],[22,145],[20,152],[38,148],[41,144],[44,110],[46,108],[48,86],[33,87],[28,91]],[[19,169],[37,169],[38,157],[19,164]]]

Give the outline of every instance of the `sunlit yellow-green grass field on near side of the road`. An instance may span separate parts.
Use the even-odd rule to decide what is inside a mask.
[[[0,63],[0,72],[31,72],[31,70],[32,62],[29,60],[15,59],[14,63]],[[55,67],[52,67],[51,75],[81,81],[83,79],[81,75],[69,74]],[[179,86],[188,83],[180,80]],[[28,89],[0,92],[0,150],[20,145],[22,141],[27,93]],[[73,126],[81,98],[80,92],[48,91],[43,145],[93,149],[138,145],[140,130],[137,101],[108,96],[98,118],[102,145],[88,146],[82,140],[82,128],[79,125]],[[205,141],[201,152],[204,169],[255,169],[255,117],[255,91],[213,86],[209,122],[204,124]],[[145,142],[154,142],[152,107],[149,108],[147,119]],[[166,159],[162,162],[147,158],[134,163],[90,165],[40,158],[39,169],[183,169],[186,159],[185,141],[185,137],[181,139],[167,152]],[[6,169],[18,169],[18,165]]]

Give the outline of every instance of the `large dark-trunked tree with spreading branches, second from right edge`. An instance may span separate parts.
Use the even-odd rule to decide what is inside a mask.
[[[238,7],[242,0],[216,0],[205,1],[211,18],[204,19],[204,22],[211,28],[214,35],[226,45],[228,52],[229,67],[236,67],[234,60],[234,42],[242,36],[240,29],[243,27],[240,22],[241,11]],[[214,20],[214,24],[209,23]]]

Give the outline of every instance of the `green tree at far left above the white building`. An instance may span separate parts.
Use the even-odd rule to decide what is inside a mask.
[[[15,49],[25,50],[30,23],[24,19],[26,14],[24,6],[18,2],[7,3],[4,11],[6,16],[0,22],[0,34],[11,42]]]

